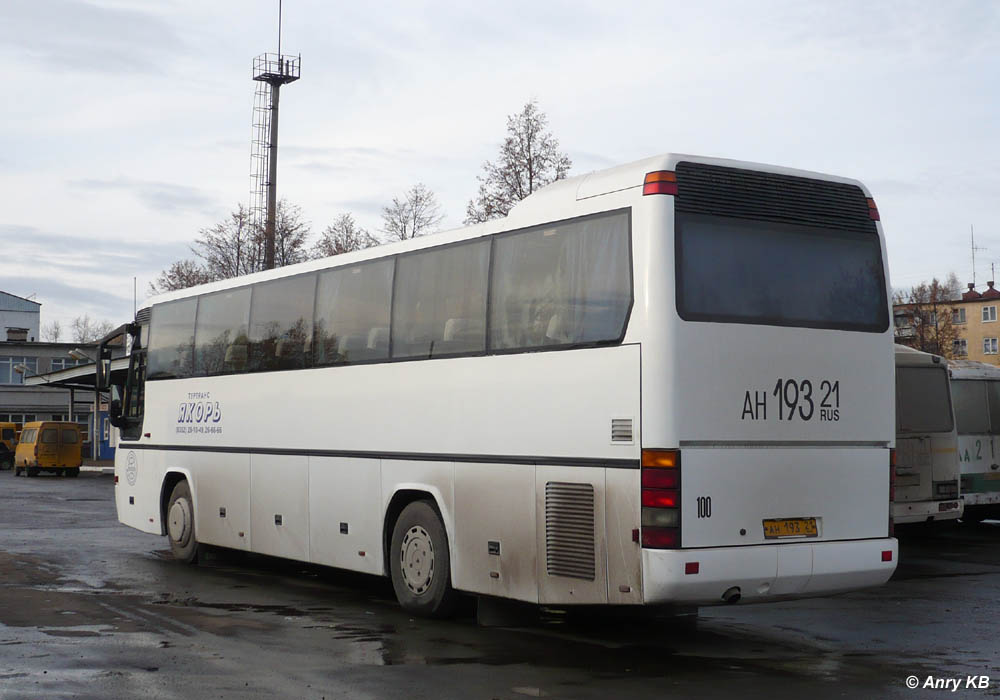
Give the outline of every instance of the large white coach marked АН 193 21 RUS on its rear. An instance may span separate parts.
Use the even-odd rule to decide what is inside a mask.
[[[663,155],[504,219],[153,299],[121,522],[548,605],[884,583],[893,342],[860,183]]]

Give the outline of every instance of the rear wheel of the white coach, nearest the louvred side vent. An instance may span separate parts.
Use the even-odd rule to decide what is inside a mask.
[[[396,598],[407,612],[445,617],[453,610],[448,537],[427,501],[414,501],[399,514],[389,545],[389,572]]]

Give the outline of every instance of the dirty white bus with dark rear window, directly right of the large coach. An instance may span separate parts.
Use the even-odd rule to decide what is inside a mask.
[[[948,365],[937,355],[897,345],[895,523],[957,520],[958,477]]]

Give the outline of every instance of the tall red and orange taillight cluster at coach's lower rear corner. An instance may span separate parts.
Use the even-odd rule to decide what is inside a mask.
[[[681,546],[681,454],[678,450],[642,451],[642,546]]]

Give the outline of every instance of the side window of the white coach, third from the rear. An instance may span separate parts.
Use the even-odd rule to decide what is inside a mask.
[[[314,364],[389,357],[392,260],[321,272],[316,289]]]

